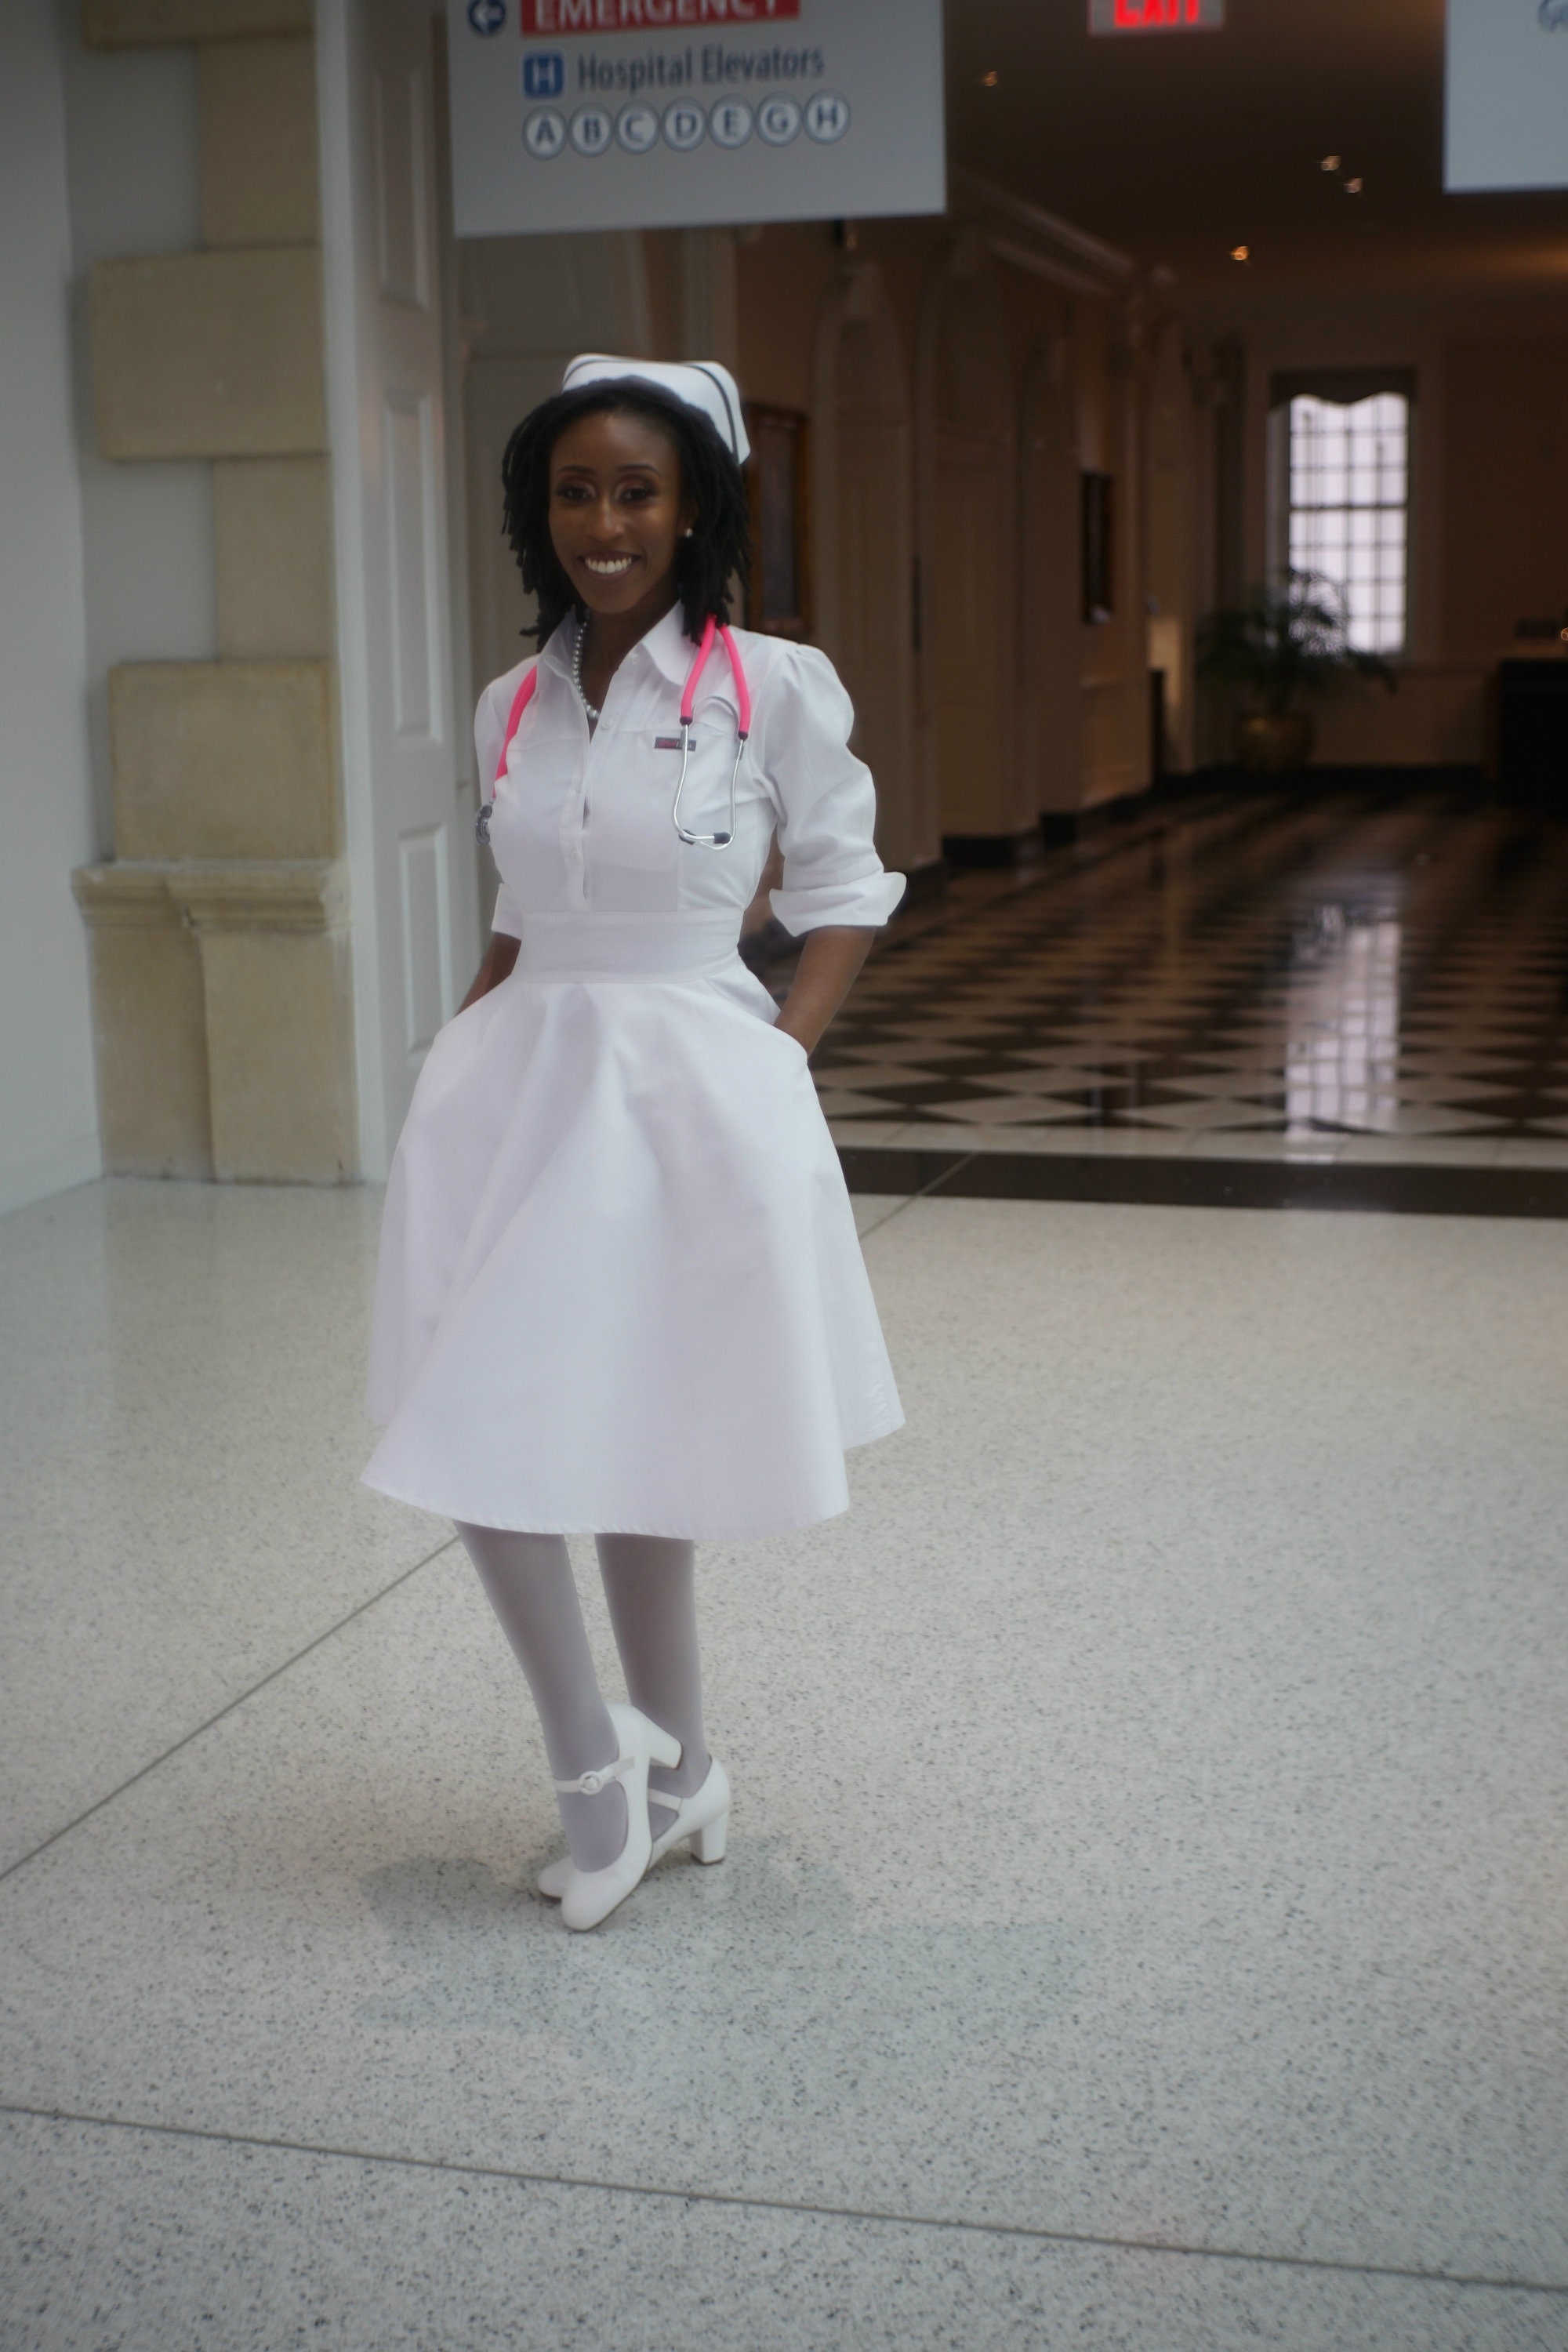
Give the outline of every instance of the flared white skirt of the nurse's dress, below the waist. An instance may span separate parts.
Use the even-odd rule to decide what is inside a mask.
[[[733,917],[529,917],[388,1181],[364,1470],[482,1526],[733,1538],[903,1421],[806,1056]]]

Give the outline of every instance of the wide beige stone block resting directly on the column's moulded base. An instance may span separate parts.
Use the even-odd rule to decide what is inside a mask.
[[[327,663],[122,663],[108,727],[122,858],[336,854]]]

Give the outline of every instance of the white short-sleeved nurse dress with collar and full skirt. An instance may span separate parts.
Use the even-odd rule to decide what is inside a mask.
[[[670,823],[679,609],[590,739],[574,626],[496,783],[496,929],[517,967],[449,1021],[388,1181],[364,1470],[451,1519],[536,1534],[771,1536],[844,1510],[844,1451],[896,1430],[844,1176],[802,1047],[736,953],[783,849],[790,931],[882,924],[872,779],[823,654],[736,630],[752,689],[736,840]],[[496,774],[527,663],[480,699]],[[738,699],[715,647],[682,823],[724,830]]]

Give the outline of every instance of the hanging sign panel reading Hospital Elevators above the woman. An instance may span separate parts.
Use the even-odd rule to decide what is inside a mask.
[[[943,212],[943,0],[449,0],[461,238]]]

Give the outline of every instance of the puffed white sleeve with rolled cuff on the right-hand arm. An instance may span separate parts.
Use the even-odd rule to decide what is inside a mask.
[[[903,875],[886,873],[872,826],[877,793],[865,760],[849,748],[853,703],[816,647],[780,649],[759,694],[757,767],[778,809],[783,887],[773,913],[797,938],[830,922],[877,929],[903,898]]]

